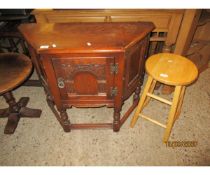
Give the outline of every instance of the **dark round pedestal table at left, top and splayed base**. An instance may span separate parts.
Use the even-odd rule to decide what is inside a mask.
[[[0,118],[8,117],[5,134],[13,134],[21,117],[40,117],[41,110],[27,108],[28,97],[22,97],[16,102],[12,90],[27,79],[32,70],[30,59],[17,53],[0,54],[0,95],[3,95],[7,104],[6,109],[0,109]]]

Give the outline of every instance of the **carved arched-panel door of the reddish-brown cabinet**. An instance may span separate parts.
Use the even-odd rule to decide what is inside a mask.
[[[76,106],[107,104],[114,83],[113,57],[52,58],[62,100]]]

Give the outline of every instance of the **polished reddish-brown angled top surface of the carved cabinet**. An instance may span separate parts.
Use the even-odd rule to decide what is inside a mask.
[[[151,22],[21,24],[38,53],[122,52],[154,29]]]

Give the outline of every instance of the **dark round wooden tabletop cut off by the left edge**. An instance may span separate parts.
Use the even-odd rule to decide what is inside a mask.
[[[22,54],[0,54],[0,94],[19,86],[31,73],[32,63]]]

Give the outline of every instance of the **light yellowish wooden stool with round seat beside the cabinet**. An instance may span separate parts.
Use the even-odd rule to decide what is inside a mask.
[[[141,116],[142,118],[165,128],[163,142],[166,143],[170,136],[173,124],[180,114],[186,85],[192,83],[197,78],[198,69],[193,62],[183,56],[171,53],[160,53],[148,58],[146,61],[146,72],[148,73],[148,80],[130,126],[134,127],[139,116]],[[172,101],[168,101],[153,94],[157,81],[166,85],[175,86]],[[151,98],[171,105],[166,125],[141,114],[143,107],[148,104]]]

